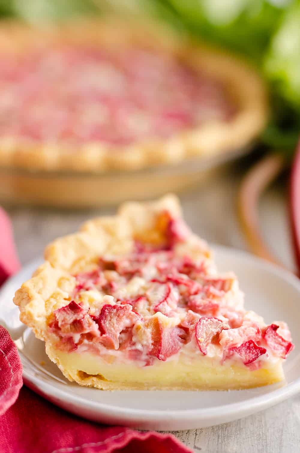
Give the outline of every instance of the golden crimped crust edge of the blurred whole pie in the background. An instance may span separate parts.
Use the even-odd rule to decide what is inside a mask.
[[[116,31],[117,30],[117,31]],[[34,170],[102,172],[134,170],[174,164],[193,156],[212,156],[247,145],[266,123],[266,91],[257,73],[237,58],[204,44],[177,39],[165,29],[117,19],[33,28],[16,23],[0,26],[0,53],[25,53],[47,44],[70,43],[120,48],[128,44],[172,53],[227,87],[237,104],[230,121],[214,121],[181,131],[169,139],[153,139],[130,146],[100,142],[68,149],[65,144],[28,145],[11,137],[0,140],[0,165]]]

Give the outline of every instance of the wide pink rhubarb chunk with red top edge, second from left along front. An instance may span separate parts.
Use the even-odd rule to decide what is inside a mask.
[[[119,335],[127,327],[126,321],[131,310],[130,304],[103,305],[100,315],[95,321],[99,326],[101,342],[104,346],[111,349],[119,348]]]

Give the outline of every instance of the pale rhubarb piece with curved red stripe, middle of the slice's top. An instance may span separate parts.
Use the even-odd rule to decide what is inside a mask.
[[[179,301],[179,294],[170,283],[153,283],[147,291],[147,296],[151,304],[154,305],[154,312],[160,311],[166,316],[172,315]]]

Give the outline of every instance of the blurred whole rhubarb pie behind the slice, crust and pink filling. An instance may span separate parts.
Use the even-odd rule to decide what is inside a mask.
[[[238,149],[266,121],[256,72],[150,24],[0,25],[0,165],[141,169]]]

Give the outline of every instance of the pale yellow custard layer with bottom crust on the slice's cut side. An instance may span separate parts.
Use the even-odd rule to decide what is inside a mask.
[[[88,352],[63,352],[46,344],[46,352],[63,375],[82,386],[102,390],[241,390],[284,380],[282,362],[251,371],[237,364],[220,365],[215,359],[155,361],[151,366],[107,363]]]

